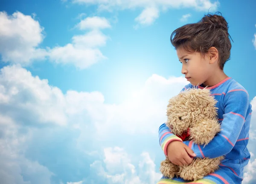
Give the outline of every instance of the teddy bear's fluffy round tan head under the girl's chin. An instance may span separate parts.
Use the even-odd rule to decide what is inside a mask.
[[[209,89],[187,89],[169,100],[166,126],[175,135],[182,135],[198,120],[214,119],[217,116],[217,101]]]

